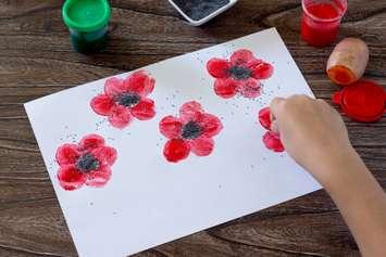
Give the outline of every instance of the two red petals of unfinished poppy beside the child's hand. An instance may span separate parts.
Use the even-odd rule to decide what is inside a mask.
[[[284,146],[282,144],[279,134],[271,130],[272,120],[271,120],[270,107],[264,107],[260,110],[258,116],[261,126],[264,127],[266,130],[269,130],[265,132],[265,134],[262,138],[265,147],[274,152],[283,152]]]

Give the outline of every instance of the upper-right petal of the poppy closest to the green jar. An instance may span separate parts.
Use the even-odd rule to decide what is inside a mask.
[[[155,80],[148,76],[144,70],[133,73],[124,80],[124,88],[128,92],[147,97],[154,89]]]

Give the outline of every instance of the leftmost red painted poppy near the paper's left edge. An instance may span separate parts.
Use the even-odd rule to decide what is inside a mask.
[[[61,145],[55,158],[60,165],[59,183],[64,190],[76,190],[84,184],[100,188],[110,180],[110,166],[116,159],[116,151],[105,146],[102,137],[89,134],[78,144]]]

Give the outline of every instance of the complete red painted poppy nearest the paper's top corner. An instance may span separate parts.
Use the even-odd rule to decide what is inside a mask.
[[[207,64],[209,74],[215,78],[214,92],[224,99],[237,93],[245,98],[257,98],[261,93],[261,79],[273,74],[273,66],[256,59],[249,50],[234,52],[231,60],[211,59]]]

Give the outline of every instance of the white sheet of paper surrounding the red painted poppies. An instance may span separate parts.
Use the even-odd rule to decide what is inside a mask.
[[[213,92],[206,68],[211,57],[229,57],[239,49],[274,65],[261,97],[229,100]],[[260,108],[274,97],[312,95],[276,29],[266,29],[215,47],[144,67],[155,78],[150,98],[157,115],[120,130],[89,106],[105,79],[25,104],[49,176],[79,256],[134,254],[320,189],[286,153],[269,151],[257,123]],[[117,75],[125,78],[127,74]],[[224,126],[206,157],[190,154],[172,164],[162,150],[159,121],[179,106],[199,101]],[[98,133],[117,150],[112,178],[104,188],[63,190],[57,178],[58,146]]]

